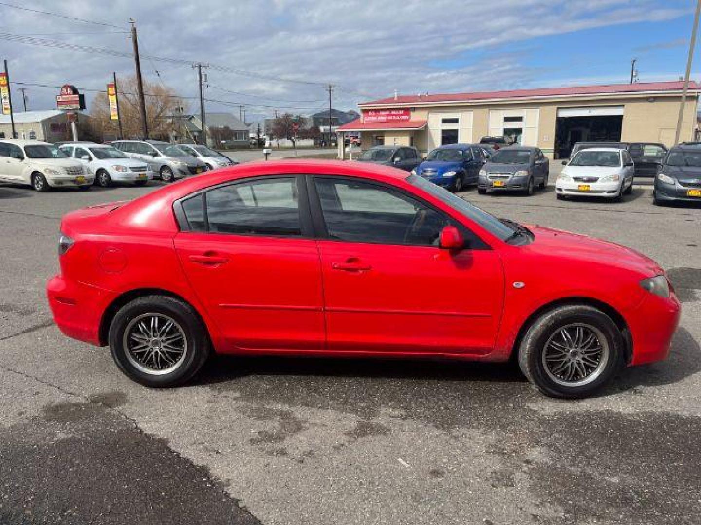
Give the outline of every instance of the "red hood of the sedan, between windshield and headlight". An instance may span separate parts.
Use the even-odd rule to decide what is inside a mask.
[[[604,263],[631,269],[646,276],[663,273],[660,265],[651,258],[615,242],[540,226],[528,228],[535,235],[529,248],[539,253]]]

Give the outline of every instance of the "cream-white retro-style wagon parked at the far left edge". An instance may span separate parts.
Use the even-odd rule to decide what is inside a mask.
[[[54,144],[5,139],[0,140],[0,181],[29,184],[45,192],[51,188],[87,190],[95,177]]]

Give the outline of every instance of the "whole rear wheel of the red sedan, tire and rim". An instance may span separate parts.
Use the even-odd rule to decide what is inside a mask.
[[[210,354],[207,332],[192,307],[162,295],[139,297],[121,307],[108,339],[120,370],[154,388],[188,381]]]

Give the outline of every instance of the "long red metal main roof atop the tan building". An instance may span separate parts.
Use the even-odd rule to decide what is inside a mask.
[[[519,99],[532,97],[566,97],[571,95],[606,94],[606,93],[637,93],[646,91],[675,91],[683,90],[682,81],[674,82],[650,82],[637,84],[609,84],[609,85],[579,85],[570,87],[541,87],[534,90],[506,90],[506,91],[476,91],[471,93],[441,93],[422,95],[400,95],[386,99],[362,102],[359,106],[371,104],[417,104],[429,102],[469,102],[482,99]],[[689,82],[689,90],[699,90],[700,85]]]

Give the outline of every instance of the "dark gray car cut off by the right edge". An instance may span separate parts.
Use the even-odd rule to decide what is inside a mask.
[[[662,160],[653,186],[653,203],[701,203],[701,148],[676,146]]]

